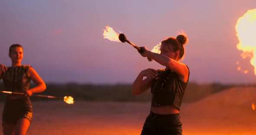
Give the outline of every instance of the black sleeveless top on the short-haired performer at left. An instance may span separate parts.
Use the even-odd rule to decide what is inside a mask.
[[[8,67],[3,73],[3,85],[5,90],[24,93],[30,87],[31,78],[28,76],[30,65]]]

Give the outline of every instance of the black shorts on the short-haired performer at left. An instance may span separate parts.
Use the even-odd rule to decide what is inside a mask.
[[[31,121],[33,109],[30,99],[22,97],[15,100],[6,99],[3,107],[2,124],[14,123],[20,118],[26,118]]]

